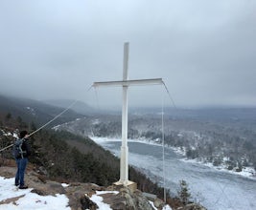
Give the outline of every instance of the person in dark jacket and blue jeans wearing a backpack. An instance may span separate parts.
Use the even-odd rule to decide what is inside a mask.
[[[28,186],[24,183],[25,170],[28,164],[28,157],[31,155],[31,148],[28,144],[27,138],[29,137],[27,131],[21,131],[19,138],[13,144],[13,156],[17,165],[17,172],[15,176],[15,185],[19,189],[27,189]]]

